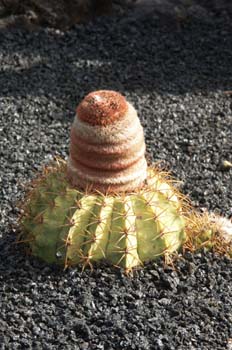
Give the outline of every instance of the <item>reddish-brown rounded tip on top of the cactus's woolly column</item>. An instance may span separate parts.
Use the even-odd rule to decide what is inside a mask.
[[[91,125],[109,125],[124,117],[127,102],[120,93],[99,90],[88,94],[77,107],[78,117]]]

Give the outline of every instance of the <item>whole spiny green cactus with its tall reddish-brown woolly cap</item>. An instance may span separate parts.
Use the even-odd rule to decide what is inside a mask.
[[[79,104],[69,159],[34,182],[20,223],[21,240],[48,263],[92,266],[105,259],[127,272],[182,246],[210,247],[217,231],[200,228],[202,216],[168,174],[147,166],[134,107],[104,90]]]

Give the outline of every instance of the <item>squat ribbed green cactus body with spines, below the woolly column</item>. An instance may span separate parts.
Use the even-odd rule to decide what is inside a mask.
[[[155,170],[143,189],[120,195],[78,191],[65,173],[47,174],[26,201],[21,225],[32,255],[65,266],[104,259],[129,271],[185,241],[182,200]]]

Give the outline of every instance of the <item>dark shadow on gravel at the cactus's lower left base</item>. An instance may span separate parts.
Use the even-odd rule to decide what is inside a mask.
[[[16,243],[16,237],[15,233],[8,232],[0,239],[0,289],[3,284],[12,284],[16,280],[21,281],[22,285],[25,285],[26,281],[31,284],[40,279],[52,279],[56,283],[64,278],[72,279],[73,276],[97,281],[106,273],[115,280],[125,278],[123,269],[114,267],[107,261],[94,263],[85,269],[81,265],[64,269],[63,265],[48,264],[29,255],[25,244]]]

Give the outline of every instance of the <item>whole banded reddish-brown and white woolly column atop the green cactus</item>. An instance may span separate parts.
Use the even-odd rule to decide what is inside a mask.
[[[118,193],[141,187],[146,177],[143,128],[134,107],[114,91],[87,95],[71,129],[71,184]]]

